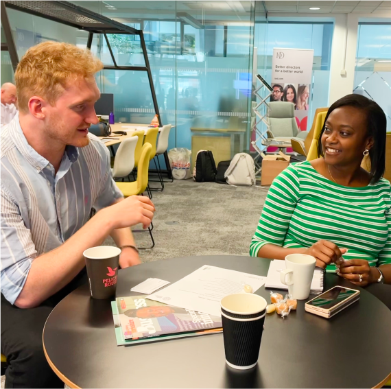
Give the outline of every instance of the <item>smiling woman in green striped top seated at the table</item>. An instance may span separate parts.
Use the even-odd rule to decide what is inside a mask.
[[[308,254],[356,285],[391,283],[385,149],[386,116],[375,102],[361,95],[335,102],[320,135],[320,158],[290,165],[272,183],[250,254]],[[370,172],[360,167],[368,154]]]

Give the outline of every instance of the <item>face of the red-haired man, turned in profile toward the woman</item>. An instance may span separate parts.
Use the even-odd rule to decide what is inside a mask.
[[[43,106],[47,137],[62,145],[78,148],[88,145],[88,127],[98,123],[94,104],[99,95],[93,78],[80,78],[70,83],[58,97],[55,106]]]

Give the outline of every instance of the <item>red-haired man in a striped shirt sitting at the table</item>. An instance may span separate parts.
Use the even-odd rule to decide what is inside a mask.
[[[19,114],[0,131],[0,353],[6,389],[63,389],[43,353],[45,320],[85,280],[83,251],[108,235],[121,268],[140,263],[130,226],[150,225],[154,205],[123,200],[107,148],[88,135],[97,123],[89,50],[45,42],[16,73]],[[97,213],[90,220],[91,208]],[[99,341],[99,340],[98,340]]]

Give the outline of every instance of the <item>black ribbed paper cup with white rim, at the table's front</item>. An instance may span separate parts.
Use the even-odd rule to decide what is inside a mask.
[[[265,322],[265,298],[257,294],[236,293],[221,301],[226,363],[246,370],[258,362]]]

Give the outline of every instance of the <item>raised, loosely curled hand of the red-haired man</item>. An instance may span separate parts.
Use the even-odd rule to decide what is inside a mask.
[[[102,211],[108,213],[107,217],[110,217],[110,220],[114,222],[115,229],[135,226],[140,223],[145,229],[152,222],[155,207],[146,196],[130,196]]]

